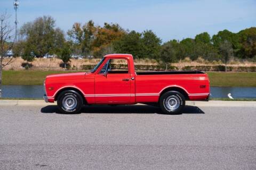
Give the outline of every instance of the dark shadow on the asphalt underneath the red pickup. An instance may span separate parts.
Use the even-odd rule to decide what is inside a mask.
[[[45,106],[41,109],[42,113],[61,114],[58,107],[54,105]],[[120,105],[120,106],[84,106],[81,113],[97,113],[97,114],[162,114],[159,107],[148,105]],[[204,112],[196,106],[185,106],[182,114],[204,114]]]

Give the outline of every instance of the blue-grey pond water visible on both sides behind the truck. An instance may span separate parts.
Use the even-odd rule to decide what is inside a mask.
[[[42,98],[43,86],[7,85],[3,86],[3,97],[8,98]],[[214,98],[256,98],[256,87],[211,87]]]

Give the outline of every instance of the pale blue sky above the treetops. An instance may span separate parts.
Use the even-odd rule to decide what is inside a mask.
[[[18,27],[39,16],[52,16],[57,27],[67,32],[74,22],[93,20],[118,23],[124,29],[142,32],[153,30],[166,42],[170,39],[194,38],[197,34],[210,35],[227,29],[238,32],[256,27],[256,0],[20,0]],[[0,13],[11,14],[12,0],[0,0]]]

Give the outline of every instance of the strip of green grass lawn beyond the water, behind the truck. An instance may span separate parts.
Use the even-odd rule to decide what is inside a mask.
[[[42,85],[46,75],[78,71],[3,71],[4,85]],[[81,71],[79,71],[81,72]],[[256,87],[256,72],[207,72],[211,86]]]

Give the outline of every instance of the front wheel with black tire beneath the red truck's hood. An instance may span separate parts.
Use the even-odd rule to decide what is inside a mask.
[[[83,98],[74,90],[62,91],[58,96],[57,105],[63,114],[77,114],[83,107]]]

